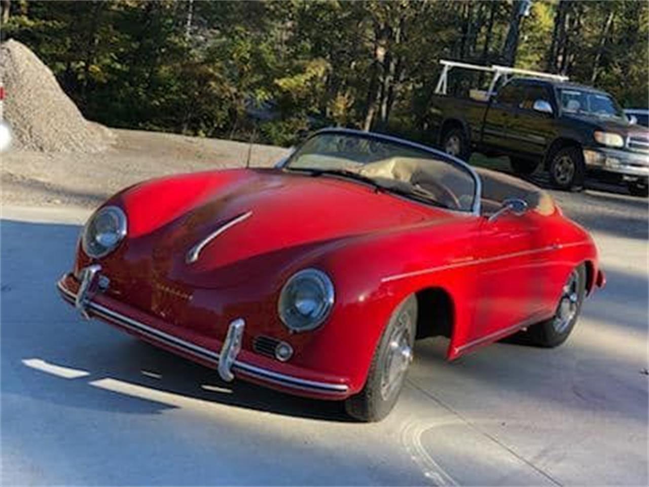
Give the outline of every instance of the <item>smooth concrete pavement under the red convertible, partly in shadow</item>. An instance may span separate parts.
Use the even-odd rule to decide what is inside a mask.
[[[596,231],[606,290],[563,347],[448,364],[419,342],[382,423],[234,382],[60,302],[84,210],[3,208],[3,485],[646,485],[647,241]],[[644,372],[643,372],[644,371]]]

